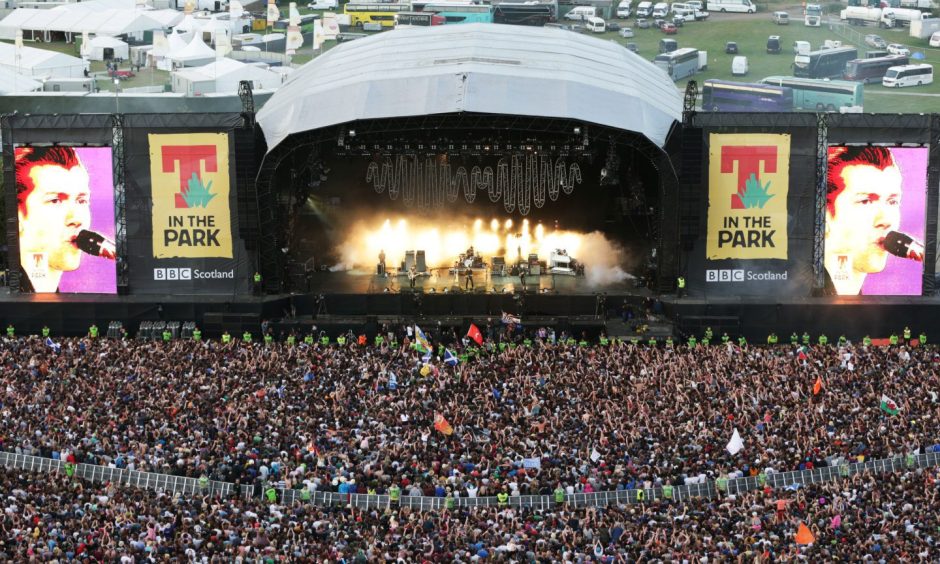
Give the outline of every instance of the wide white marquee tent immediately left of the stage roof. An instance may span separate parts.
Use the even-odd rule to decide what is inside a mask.
[[[174,72],[173,92],[188,96],[235,94],[242,80],[250,81],[255,90],[271,90],[281,85],[282,77],[266,68],[223,58],[205,66]]]

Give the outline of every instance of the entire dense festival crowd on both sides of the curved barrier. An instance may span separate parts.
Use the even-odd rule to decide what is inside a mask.
[[[389,339],[326,347],[69,339],[53,349],[39,338],[4,339],[0,448],[257,486],[462,497],[676,485],[923,452],[938,438],[940,356],[933,347],[580,346],[550,344],[539,334],[531,346],[476,350],[466,339],[429,335],[465,359],[456,367],[426,363],[404,335],[398,346]],[[896,401],[897,414],[882,409],[883,397]],[[436,414],[452,434],[435,429]],[[731,454],[734,430],[743,448]],[[355,558],[362,551],[368,560],[411,562],[481,551],[557,560],[595,550],[633,557],[674,550],[681,561],[764,548],[779,557],[793,548],[791,517],[799,517],[819,535],[844,532],[832,537],[838,548],[817,543],[813,550],[851,549],[875,560],[880,551],[889,561],[900,552],[885,551],[914,560],[926,551],[936,559],[936,523],[918,510],[934,501],[933,476],[856,478],[854,493],[840,489],[845,482],[805,488],[788,494],[791,509],[781,518],[774,513],[781,494],[772,491],[689,505],[420,514],[173,499],[4,475],[4,491],[24,493],[18,509],[7,510],[3,534],[7,550],[16,534],[23,537],[12,544],[18,551],[29,535],[85,538],[91,531],[109,539],[95,543],[105,555],[193,549],[200,556],[255,558],[270,550],[284,558],[296,551]],[[32,503],[34,496],[42,502]],[[102,502],[109,516],[88,512],[95,499],[109,500]],[[51,509],[62,504],[77,504],[82,515]],[[836,507],[843,526],[827,529]],[[30,512],[46,531],[23,532]],[[904,542],[884,536],[898,527]],[[77,550],[74,539],[68,543]],[[33,555],[54,551],[44,546]],[[249,546],[261,550],[244,553]]]

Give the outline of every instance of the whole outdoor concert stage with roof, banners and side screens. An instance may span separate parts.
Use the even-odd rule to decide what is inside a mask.
[[[6,191],[0,325],[369,332],[508,312],[597,328],[650,296],[641,278],[678,334],[940,332],[940,115],[696,112],[694,82],[683,105],[611,42],[439,27],[341,45],[257,115],[244,83],[240,113],[2,116],[5,185],[58,154],[86,169],[91,210],[63,230]],[[345,66],[360,72],[335,80]],[[850,189],[858,170],[877,180]],[[113,252],[53,268],[79,235]],[[558,256],[583,276],[546,274]]]

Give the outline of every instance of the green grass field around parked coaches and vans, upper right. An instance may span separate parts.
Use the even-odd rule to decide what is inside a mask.
[[[621,21],[621,25],[629,25],[635,32],[635,37],[623,39],[618,32],[608,32],[600,37],[609,38],[620,44],[634,42],[639,48],[639,55],[644,59],[652,60],[659,52],[659,40],[671,37],[678,41],[679,47],[695,47],[708,52],[708,69],[695,75],[694,80],[701,85],[708,78],[735,80],[740,82],[756,82],[765,76],[791,75],[793,64],[792,45],[794,41],[809,41],[813,49],[818,49],[826,39],[837,39],[843,45],[854,45],[859,49],[859,56],[870,47],[865,46],[861,40],[849,41],[830,31],[829,27],[806,27],[796,19],[796,11],[791,12],[789,25],[776,25],[770,20],[770,12],[762,11],[757,14],[729,20],[721,15],[712,14],[708,21],[687,23],[679,28],[676,35],[667,36],[658,29],[639,29],[633,19]],[[926,39],[915,39],[908,35],[907,29],[875,29],[854,28],[864,36],[867,33],[877,33],[888,43],[902,43],[912,52],[923,51],[926,55],[924,62],[940,63],[940,50],[927,46]],[[780,45],[783,51],[779,55],[767,54],[767,37],[780,36]],[[731,76],[731,59],[734,55],[725,54],[725,43],[735,41],[738,44],[740,55],[748,58],[750,72],[746,77]],[[937,68],[940,73],[940,67]],[[687,80],[676,83],[676,86],[685,88]],[[898,94],[901,95],[893,95]],[[913,95],[917,94],[917,95]],[[931,94],[933,96],[922,96]],[[933,113],[940,112],[940,77],[933,84],[920,87],[903,88],[900,90],[887,89],[880,84],[865,86],[865,111],[875,113]]]

